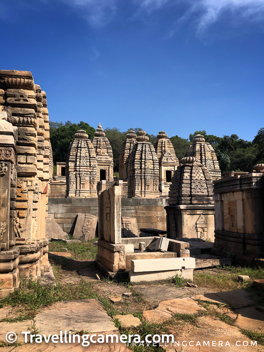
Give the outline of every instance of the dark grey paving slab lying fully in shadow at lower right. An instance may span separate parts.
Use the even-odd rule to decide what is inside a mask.
[[[245,290],[216,292],[216,295],[234,308],[242,308],[255,304],[255,301]]]

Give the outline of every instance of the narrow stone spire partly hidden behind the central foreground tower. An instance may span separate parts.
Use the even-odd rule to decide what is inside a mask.
[[[133,146],[137,143],[135,131],[129,131],[127,139],[123,142],[119,155],[119,179],[128,181],[128,162]]]

